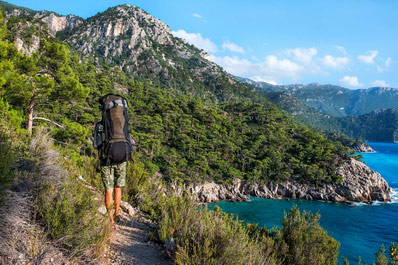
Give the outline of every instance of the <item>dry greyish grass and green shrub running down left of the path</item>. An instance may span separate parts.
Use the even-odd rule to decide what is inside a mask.
[[[102,203],[95,200],[98,194],[79,180],[79,170],[60,154],[43,128],[32,138],[30,154],[36,169],[37,219],[69,257],[92,260],[109,235],[108,219],[97,211]]]

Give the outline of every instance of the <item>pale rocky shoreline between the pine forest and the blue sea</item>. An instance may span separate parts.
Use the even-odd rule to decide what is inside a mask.
[[[305,199],[326,202],[353,203],[373,201],[391,201],[391,188],[379,173],[364,163],[350,159],[337,170],[343,176],[341,183],[329,183],[320,186],[299,183],[290,179],[277,184],[254,184],[242,179],[233,180],[232,184],[206,182],[172,185],[177,195],[189,193],[203,203],[228,201],[249,201],[248,196],[267,199]]]

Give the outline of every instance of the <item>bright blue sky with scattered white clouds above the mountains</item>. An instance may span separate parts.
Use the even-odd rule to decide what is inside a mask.
[[[398,87],[395,0],[11,0],[87,18],[131,4],[234,75],[276,84]]]

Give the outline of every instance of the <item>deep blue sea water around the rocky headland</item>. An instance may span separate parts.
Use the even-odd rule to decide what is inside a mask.
[[[394,188],[392,203],[349,206],[318,201],[251,198],[251,202],[222,201],[217,205],[225,212],[238,215],[241,220],[268,228],[280,227],[284,212],[288,212],[294,204],[301,210],[319,212],[322,227],[340,241],[341,256],[348,258],[350,264],[357,264],[359,256],[365,264],[371,264],[382,243],[388,249],[391,242],[398,242],[398,144],[369,144],[376,153],[362,154],[363,160]]]

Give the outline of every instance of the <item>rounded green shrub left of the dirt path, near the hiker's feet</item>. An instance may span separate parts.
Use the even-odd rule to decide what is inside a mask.
[[[49,236],[60,240],[72,256],[102,244],[107,234],[107,218],[99,215],[93,193],[74,176],[60,190],[50,183],[37,190],[36,203]],[[85,253],[86,254],[86,253]]]

